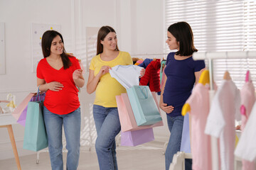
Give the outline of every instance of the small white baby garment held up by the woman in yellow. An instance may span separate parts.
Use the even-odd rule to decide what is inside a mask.
[[[117,65],[110,69],[110,75],[117,79],[125,89],[129,89],[132,86],[139,86],[139,76],[142,69],[137,65]]]

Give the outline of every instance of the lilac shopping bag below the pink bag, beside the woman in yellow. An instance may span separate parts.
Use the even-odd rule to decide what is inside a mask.
[[[153,128],[121,132],[121,146],[134,147],[154,140]]]

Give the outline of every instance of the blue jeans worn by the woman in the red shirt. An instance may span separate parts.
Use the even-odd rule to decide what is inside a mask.
[[[80,108],[66,115],[51,113],[43,106],[43,119],[46,124],[48,135],[48,149],[50,153],[50,164],[53,170],[63,170],[63,140],[62,131],[64,127],[67,142],[67,169],[78,169],[80,155]]]

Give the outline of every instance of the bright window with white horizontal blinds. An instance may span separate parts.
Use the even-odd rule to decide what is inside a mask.
[[[193,30],[199,52],[256,50],[255,1],[166,0],[165,3],[166,30],[172,23],[186,21]],[[167,45],[165,49],[164,52],[169,52]],[[245,82],[247,69],[256,84],[256,59],[214,60],[213,69],[218,85],[226,69],[238,88]]]

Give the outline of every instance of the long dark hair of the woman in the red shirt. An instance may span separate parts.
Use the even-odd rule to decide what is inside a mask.
[[[51,43],[53,42],[53,38],[55,38],[58,35],[60,36],[63,42],[63,53],[60,55],[61,60],[63,61],[63,68],[68,69],[72,63],[70,62],[68,55],[65,52],[63,36],[55,30],[46,30],[46,32],[43,33],[43,37],[42,37],[43,57],[46,58],[50,56]]]

